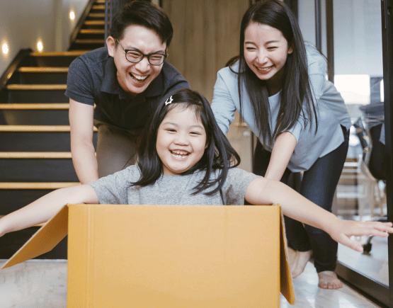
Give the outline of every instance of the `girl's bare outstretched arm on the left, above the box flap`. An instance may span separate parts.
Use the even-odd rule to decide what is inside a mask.
[[[62,188],[42,196],[0,219],[0,236],[7,232],[33,227],[47,222],[69,203],[99,203],[96,192],[89,185]]]

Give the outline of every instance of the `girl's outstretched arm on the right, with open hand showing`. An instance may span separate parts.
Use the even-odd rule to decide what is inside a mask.
[[[246,190],[245,199],[254,205],[279,203],[284,215],[323,229],[338,243],[360,252],[363,247],[352,241],[351,236],[386,237],[393,233],[392,222],[354,222],[339,219],[285,184],[267,178],[256,178],[252,181]]]

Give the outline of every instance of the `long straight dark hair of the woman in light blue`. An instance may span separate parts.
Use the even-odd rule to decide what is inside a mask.
[[[287,40],[288,47],[292,47],[292,53],[287,55],[284,67],[280,110],[273,133],[269,125],[271,115],[266,81],[258,79],[244,58],[244,33],[250,23],[261,23],[280,30]],[[244,13],[240,28],[240,53],[239,56],[230,59],[227,66],[232,66],[237,60],[239,60],[239,72],[235,73],[239,74],[240,114],[243,105],[241,91],[245,86],[254,109],[255,122],[264,143],[271,146],[275,137],[292,128],[298,120],[304,122],[304,127],[309,124],[311,130],[314,118],[315,132],[317,132],[317,110],[312,100],[312,89],[309,84],[306,48],[296,17],[283,1],[258,1]]]

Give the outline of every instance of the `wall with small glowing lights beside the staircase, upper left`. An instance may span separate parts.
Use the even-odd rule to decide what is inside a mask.
[[[69,35],[89,0],[1,0],[0,1],[0,75],[19,50],[37,50],[42,40],[43,51],[67,50]],[[76,15],[69,20],[69,11]],[[8,55],[1,46],[6,43]]]

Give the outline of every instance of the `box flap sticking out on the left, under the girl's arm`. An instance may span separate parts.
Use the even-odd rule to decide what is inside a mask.
[[[35,232],[33,236],[4,264],[2,268],[9,268],[23,261],[51,251],[64,239],[68,232],[68,206],[59,210],[52,219]]]

